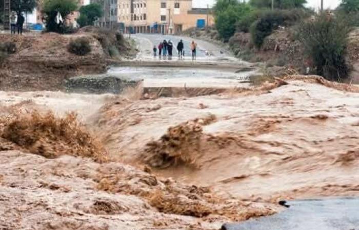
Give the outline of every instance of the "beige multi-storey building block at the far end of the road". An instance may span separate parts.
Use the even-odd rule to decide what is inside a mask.
[[[125,33],[179,33],[197,26],[197,20],[213,25],[210,9],[193,9],[192,0],[91,0],[104,4],[102,27],[119,27]],[[203,24],[203,23],[202,23]]]

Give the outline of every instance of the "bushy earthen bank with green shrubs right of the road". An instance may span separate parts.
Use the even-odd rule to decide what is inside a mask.
[[[233,53],[267,67],[290,66],[298,72],[343,81],[349,76],[348,36],[359,26],[359,1],[343,0],[334,11],[315,12],[306,0],[217,0],[214,38]]]

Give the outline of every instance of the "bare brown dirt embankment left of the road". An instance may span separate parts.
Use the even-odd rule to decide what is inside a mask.
[[[105,33],[106,32],[106,33]],[[90,41],[91,52],[77,56],[68,52],[68,44],[77,37]],[[123,37],[110,31],[85,28],[76,34],[55,33],[0,35],[1,42],[14,42],[16,52],[2,63],[1,90],[58,90],[64,79],[82,74],[104,73],[109,55],[127,57],[134,49]],[[123,39],[123,40],[122,40]]]

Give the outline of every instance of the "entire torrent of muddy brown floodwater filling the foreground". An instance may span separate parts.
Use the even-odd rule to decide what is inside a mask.
[[[273,214],[278,199],[357,196],[356,92],[301,76],[155,100],[1,92],[0,228],[218,229]],[[74,111],[84,127],[16,115],[33,109]],[[29,135],[39,130],[51,138]],[[97,141],[105,162],[97,147],[64,152]],[[49,157],[41,143],[64,147]]]

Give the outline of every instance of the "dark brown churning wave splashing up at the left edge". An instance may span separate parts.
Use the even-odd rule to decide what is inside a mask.
[[[52,112],[23,112],[1,123],[1,136],[31,153],[47,158],[72,155],[107,160],[102,144],[78,122],[75,113],[56,118]]]

